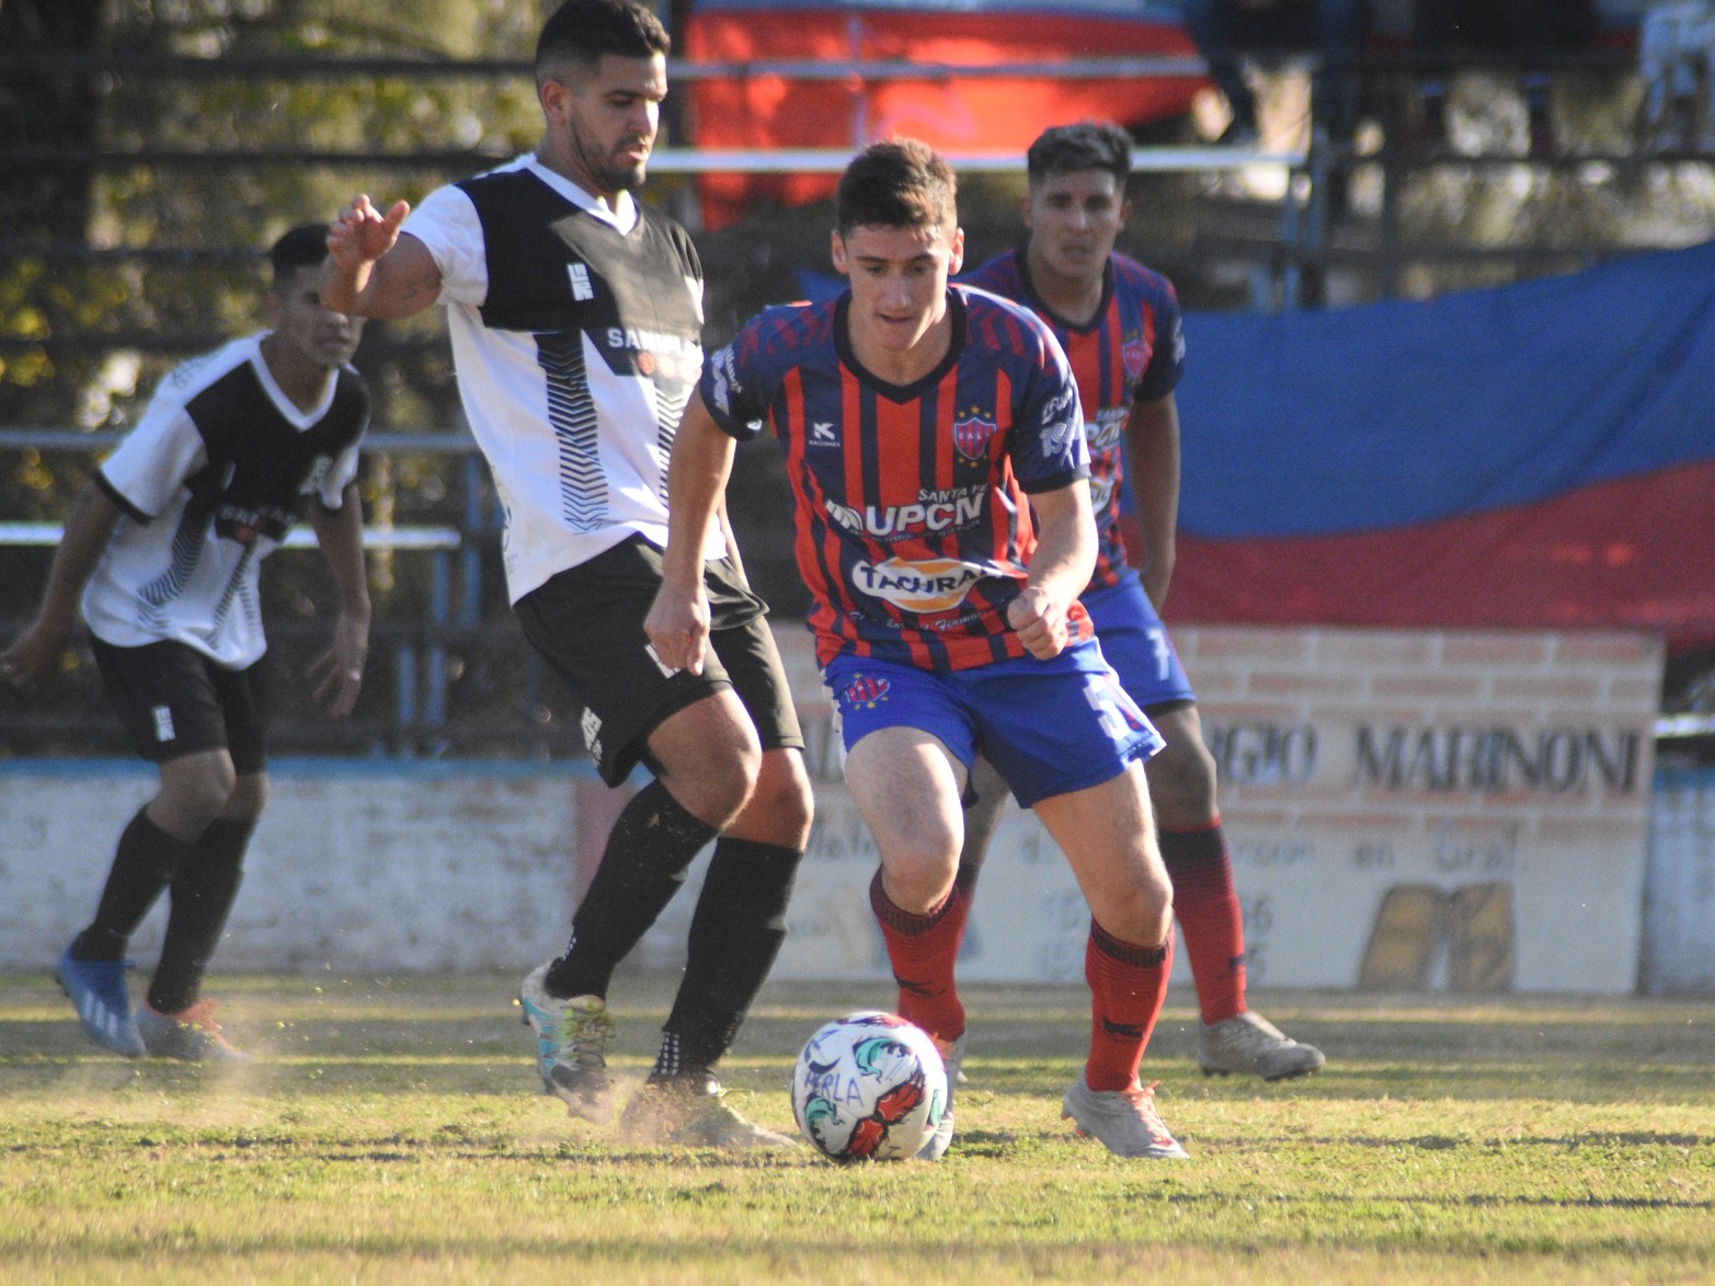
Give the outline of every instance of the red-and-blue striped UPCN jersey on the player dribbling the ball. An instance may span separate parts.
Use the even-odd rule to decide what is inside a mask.
[[[816,657],[1022,657],[1005,609],[1036,547],[1027,496],[1089,477],[1065,353],[1027,309],[952,286],[947,357],[888,384],[851,352],[849,302],[767,309],[701,377],[725,432],[767,425],[785,451]]]

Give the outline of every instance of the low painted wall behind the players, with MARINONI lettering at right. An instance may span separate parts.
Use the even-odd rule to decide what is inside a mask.
[[[1653,640],[1225,628],[1175,638],[1225,773],[1255,984],[1634,989]],[[864,895],[875,850],[839,782],[808,650],[797,631],[784,643],[818,823],[777,972],[883,981]],[[0,969],[51,965],[151,782],[142,765],[0,761]],[[528,969],[564,945],[623,799],[585,765],[276,763],[216,967]],[[679,964],[691,902],[669,907],[635,964]],[[134,943],[144,965],[159,922]],[[962,976],[1077,979],[1086,933],[1058,850],[1008,809]],[[1188,981],[1183,958],[1176,979]]]

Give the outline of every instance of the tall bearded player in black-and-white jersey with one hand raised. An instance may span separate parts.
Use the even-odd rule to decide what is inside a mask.
[[[703,542],[713,662],[672,670],[643,631],[667,540],[667,460],[703,365],[696,252],[633,197],[667,48],[631,0],[568,0],[537,43],[537,151],[415,213],[358,197],[329,230],[322,285],[370,317],[446,309],[465,413],[506,509],[525,634],[583,703],[604,780],[640,763],[655,775],[614,825],[564,955],[520,991],[544,1089],[607,1120],[614,967],[715,840],[684,981],[623,1127],[648,1142],[784,1145],[732,1113],[713,1077],[785,934],[811,814],[767,607],[724,521]]]

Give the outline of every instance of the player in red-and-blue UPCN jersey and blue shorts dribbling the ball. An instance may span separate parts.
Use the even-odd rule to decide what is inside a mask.
[[[1137,1075],[1171,962],[1142,773],[1159,737],[1077,602],[1096,566],[1077,389],[1027,309],[948,285],[964,255],[954,192],[921,142],[864,151],[837,197],[847,291],[768,310],[712,358],[669,465],[648,634],[662,664],[701,665],[695,552],[734,439],[772,429],[845,782],[882,854],[870,900],[900,1015],[935,1037],[955,1079],[969,902],[954,876],[981,753],[1036,809],[1091,905],[1089,1058],[1067,1115],[1120,1156],[1183,1157]],[[948,1111],[921,1156],[950,1139]]]

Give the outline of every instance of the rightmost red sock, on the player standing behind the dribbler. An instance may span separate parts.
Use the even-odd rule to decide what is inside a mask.
[[[1221,821],[1200,830],[1163,830],[1159,838],[1202,1020],[1235,1019],[1245,1012],[1245,919]]]

